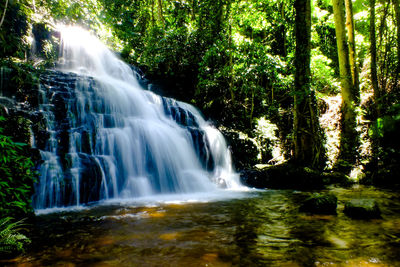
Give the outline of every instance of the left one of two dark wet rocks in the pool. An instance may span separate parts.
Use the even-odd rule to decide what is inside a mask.
[[[300,212],[336,214],[337,197],[333,194],[313,194],[300,206]]]

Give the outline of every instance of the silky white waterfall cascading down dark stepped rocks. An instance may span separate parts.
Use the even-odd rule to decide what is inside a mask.
[[[223,136],[194,107],[143,90],[88,32],[61,38],[60,70],[41,77],[36,209],[240,186]]]

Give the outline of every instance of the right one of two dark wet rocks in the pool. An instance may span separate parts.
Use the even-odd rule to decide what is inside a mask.
[[[343,212],[353,219],[381,218],[381,211],[374,199],[352,199],[345,203]]]

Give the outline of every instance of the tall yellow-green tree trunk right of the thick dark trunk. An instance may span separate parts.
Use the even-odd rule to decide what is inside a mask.
[[[349,63],[349,50],[347,47],[344,4],[343,0],[332,0],[333,15],[335,19],[336,42],[339,58],[339,73],[342,94],[341,107],[341,136],[340,153],[337,166],[350,166],[355,162],[355,151],[357,145],[356,116],[354,111],[354,89]]]

